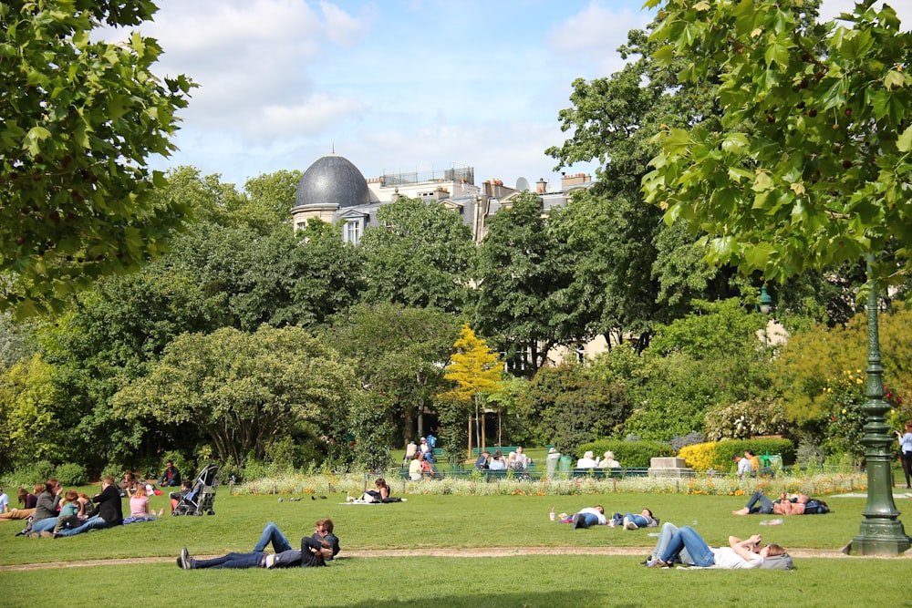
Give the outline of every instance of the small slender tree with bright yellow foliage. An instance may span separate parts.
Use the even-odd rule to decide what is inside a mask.
[[[456,383],[450,391],[440,395],[463,404],[474,406],[474,417],[469,418],[469,455],[472,455],[472,424],[476,443],[484,448],[484,398],[501,390],[502,364],[497,353],[485,341],[475,335],[468,323],[462,324],[459,339],[453,344],[456,352],[450,357],[445,377]],[[479,420],[481,419],[481,425]]]

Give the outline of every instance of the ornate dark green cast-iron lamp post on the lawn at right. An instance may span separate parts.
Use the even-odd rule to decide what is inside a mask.
[[[896,556],[907,551],[912,539],[906,535],[893,501],[893,475],[890,472],[890,446],[893,438],[886,424],[890,409],[884,401],[884,368],[880,365],[880,336],[877,327],[877,288],[872,273],[874,256],[868,254],[867,275],[867,401],[865,410],[865,446],[867,468],[867,504],[862,513],[861,531],[848,545],[848,551],[859,555]]]

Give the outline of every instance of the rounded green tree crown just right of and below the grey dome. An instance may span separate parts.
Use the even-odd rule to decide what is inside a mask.
[[[399,199],[377,211],[358,243],[365,300],[461,313],[474,245],[459,214],[437,203]]]

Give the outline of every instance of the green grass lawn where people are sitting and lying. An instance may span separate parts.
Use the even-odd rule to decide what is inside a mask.
[[[655,542],[646,531],[599,526],[574,531],[553,523],[548,512],[603,504],[607,512],[649,507],[662,520],[695,525],[710,543],[729,534],[761,532],[786,547],[835,549],[858,532],[865,500],[826,500],[833,512],[761,526],[764,516],[736,517],[743,497],[679,494],[584,496],[423,496],[378,506],[343,506],[327,500],[278,502],[273,496],[230,496],[220,489],[213,517],[180,517],[94,531],[66,539],[15,537],[19,522],[0,523],[0,563],[75,562],[86,559],[161,557],[166,562],[98,565],[0,573],[0,605],[31,605],[53,590],[57,602],[107,606],[130,602],[172,605],[177,598],[203,605],[376,606],[434,603],[440,606],[651,606],[749,603],[853,606],[912,605],[906,559],[796,560],[795,572],[656,571],[640,557],[523,555],[523,547],[642,547]],[[154,506],[163,506],[159,497]],[[897,499],[900,510],[907,499]],[[192,571],[173,558],[182,546],[196,555],[250,551],[265,521],[296,539],[314,521],[332,517],[342,553],[324,569],[286,571]],[[368,549],[516,547],[508,557],[349,557]]]

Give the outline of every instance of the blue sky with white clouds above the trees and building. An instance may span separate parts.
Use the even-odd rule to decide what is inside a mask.
[[[560,183],[544,149],[577,77],[607,77],[651,15],[642,0],[159,0],[142,26],[159,76],[200,88],[181,110],[180,151],[243,186],[306,170],[332,151],[365,177],[475,168],[475,181]],[[895,2],[904,5],[906,0]],[[910,3],[912,4],[912,3]],[[850,0],[825,0],[834,15]],[[912,9],[897,7],[904,26]],[[577,165],[567,172],[592,172]]]

